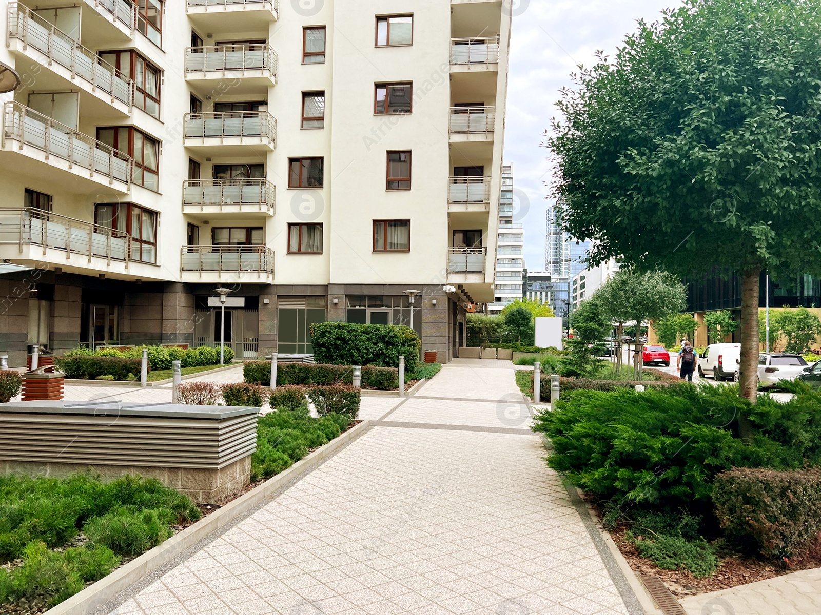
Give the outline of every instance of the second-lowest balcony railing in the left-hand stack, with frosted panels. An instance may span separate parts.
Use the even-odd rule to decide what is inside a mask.
[[[56,156],[67,160],[69,168],[77,165],[88,169],[89,176],[105,175],[109,184],[113,180],[131,183],[131,157],[20,103],[9,101],[4,105],[2,138],[4,147],[8,139],[13,139],[20,142],[20,149],[26,144],[43,150],[47,160]]]

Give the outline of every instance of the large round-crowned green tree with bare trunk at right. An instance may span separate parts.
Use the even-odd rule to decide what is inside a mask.
[[[817,0],[685,0],[562,93],[553,195],[592,257],[741,276],[755,403],[759,273],[821,273]]]

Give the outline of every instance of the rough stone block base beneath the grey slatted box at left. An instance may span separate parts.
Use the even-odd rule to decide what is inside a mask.
[[[250,484],[250,455],[218,470],[190,467],[110,466],[102,464],[0,461],[3,474],[65,477],[75,472],[99,474],[103,481],[117,476],[140,475],[156,478],[167,487],[186,494],[195,503],[226,503],[242,494]]]

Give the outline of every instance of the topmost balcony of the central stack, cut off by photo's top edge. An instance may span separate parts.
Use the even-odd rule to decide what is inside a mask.
[[[186,13],[209,32],[268,30],[279,19],[279,0],[187,0]]]

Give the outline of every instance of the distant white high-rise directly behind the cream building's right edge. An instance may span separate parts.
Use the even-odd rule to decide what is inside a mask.
[[[502,166],[502,194],[499,196],[499,232],[496,244],[496,285],[488,312],[498,314],[509,303],[522,298],[524,231],[513,221],[513,167]]]

